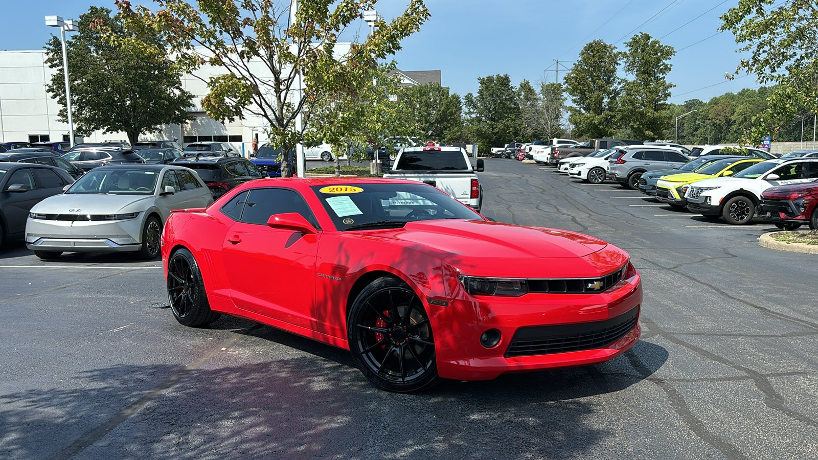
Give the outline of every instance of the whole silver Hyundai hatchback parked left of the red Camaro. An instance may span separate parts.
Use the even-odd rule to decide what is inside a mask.
[[[66,188],[34,205],[26,221],[25,246],[40,259],[65,251],[138,251],[155,259],[172,210],[213,202],[192,169],[173,165],[103,166]]]

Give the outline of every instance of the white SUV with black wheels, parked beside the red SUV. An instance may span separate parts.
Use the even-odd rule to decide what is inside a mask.
[[[766,160],[735,176],[696,182],[687,189],[687,209],[708,216],[721,216],[727,223],[749,223],[762,192],[788,183],[818,178],[818,158]]]

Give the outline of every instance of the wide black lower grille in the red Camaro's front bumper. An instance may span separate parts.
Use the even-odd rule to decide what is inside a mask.
[[[621,339],[636,326],[639,305],[605,321],[521,327],[511,339],[506,358],[595,350]]]

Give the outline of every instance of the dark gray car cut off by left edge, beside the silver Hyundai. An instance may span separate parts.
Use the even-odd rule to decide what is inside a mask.
[[[0,245],[22,239],[29,210],[71,183],[74,178],[54,166],[0,163]]]

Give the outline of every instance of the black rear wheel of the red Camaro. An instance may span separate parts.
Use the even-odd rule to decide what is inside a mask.
[[[207,326],[222,316],[210,309],[205,282],[191,251],[180,249],[168,260],[168,299],[173,318],[190,327]]]

